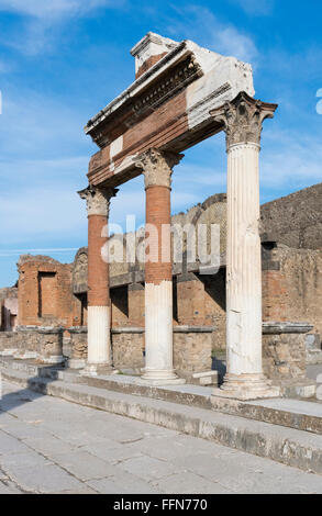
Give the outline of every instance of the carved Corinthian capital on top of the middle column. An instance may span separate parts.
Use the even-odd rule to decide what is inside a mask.
[[[144,173],[145,188],[171,188],[173,168],[180,162],[182,154],[151,148],[135,159],[135,166]]]

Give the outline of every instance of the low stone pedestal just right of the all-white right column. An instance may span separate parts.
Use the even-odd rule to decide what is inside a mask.
[[[306,323],[263,323],[264,373],[276,382],[307,377]]]

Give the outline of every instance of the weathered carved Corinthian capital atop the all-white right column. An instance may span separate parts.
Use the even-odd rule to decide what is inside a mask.
[[[232,145],[242,143],[260,145],[263,121],[273,119],[277,106],[253,99],[242,91],[232,102],[210,111],[210,114],[224,126],[229,150]]]

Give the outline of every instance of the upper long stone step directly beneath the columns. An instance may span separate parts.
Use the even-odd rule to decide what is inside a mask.
[[[163,400],[199,408],[215,410],[224,414],[256,419],[274,425],[322,435],[322,404],[302,400],[273,399],[241,402],[211,396],[212,388],[191,384],[176,386],[147,386],[135,383],[130,375],[82,377],[75,370],[36,364],[32,360],[0,359],[2,370],[22,371],[30,377],[62,380],[135,396]]]

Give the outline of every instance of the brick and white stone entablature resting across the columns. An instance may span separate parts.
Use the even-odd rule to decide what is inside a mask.
[[[135,158],[149,148],[180,153],[218,133],[222,125],[210,110],[241,91],[254,94],[249,65],[191,41],[170,46],[88,122],[86,133],[101,147],[89,165],[90,184],[122,184],[140,175]]]

